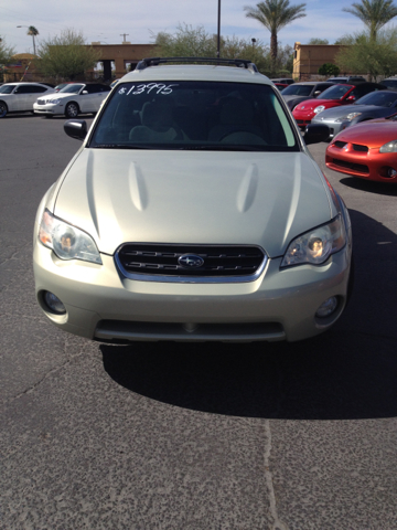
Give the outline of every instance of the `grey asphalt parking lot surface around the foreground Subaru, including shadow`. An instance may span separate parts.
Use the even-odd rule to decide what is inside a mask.
[[[397,187],[311,147],[353,223],[354,294],[331,331],[105,346],[34,299],[35,211],[79,147],[63,124],[0,120],[0,529],[397,529]]]

